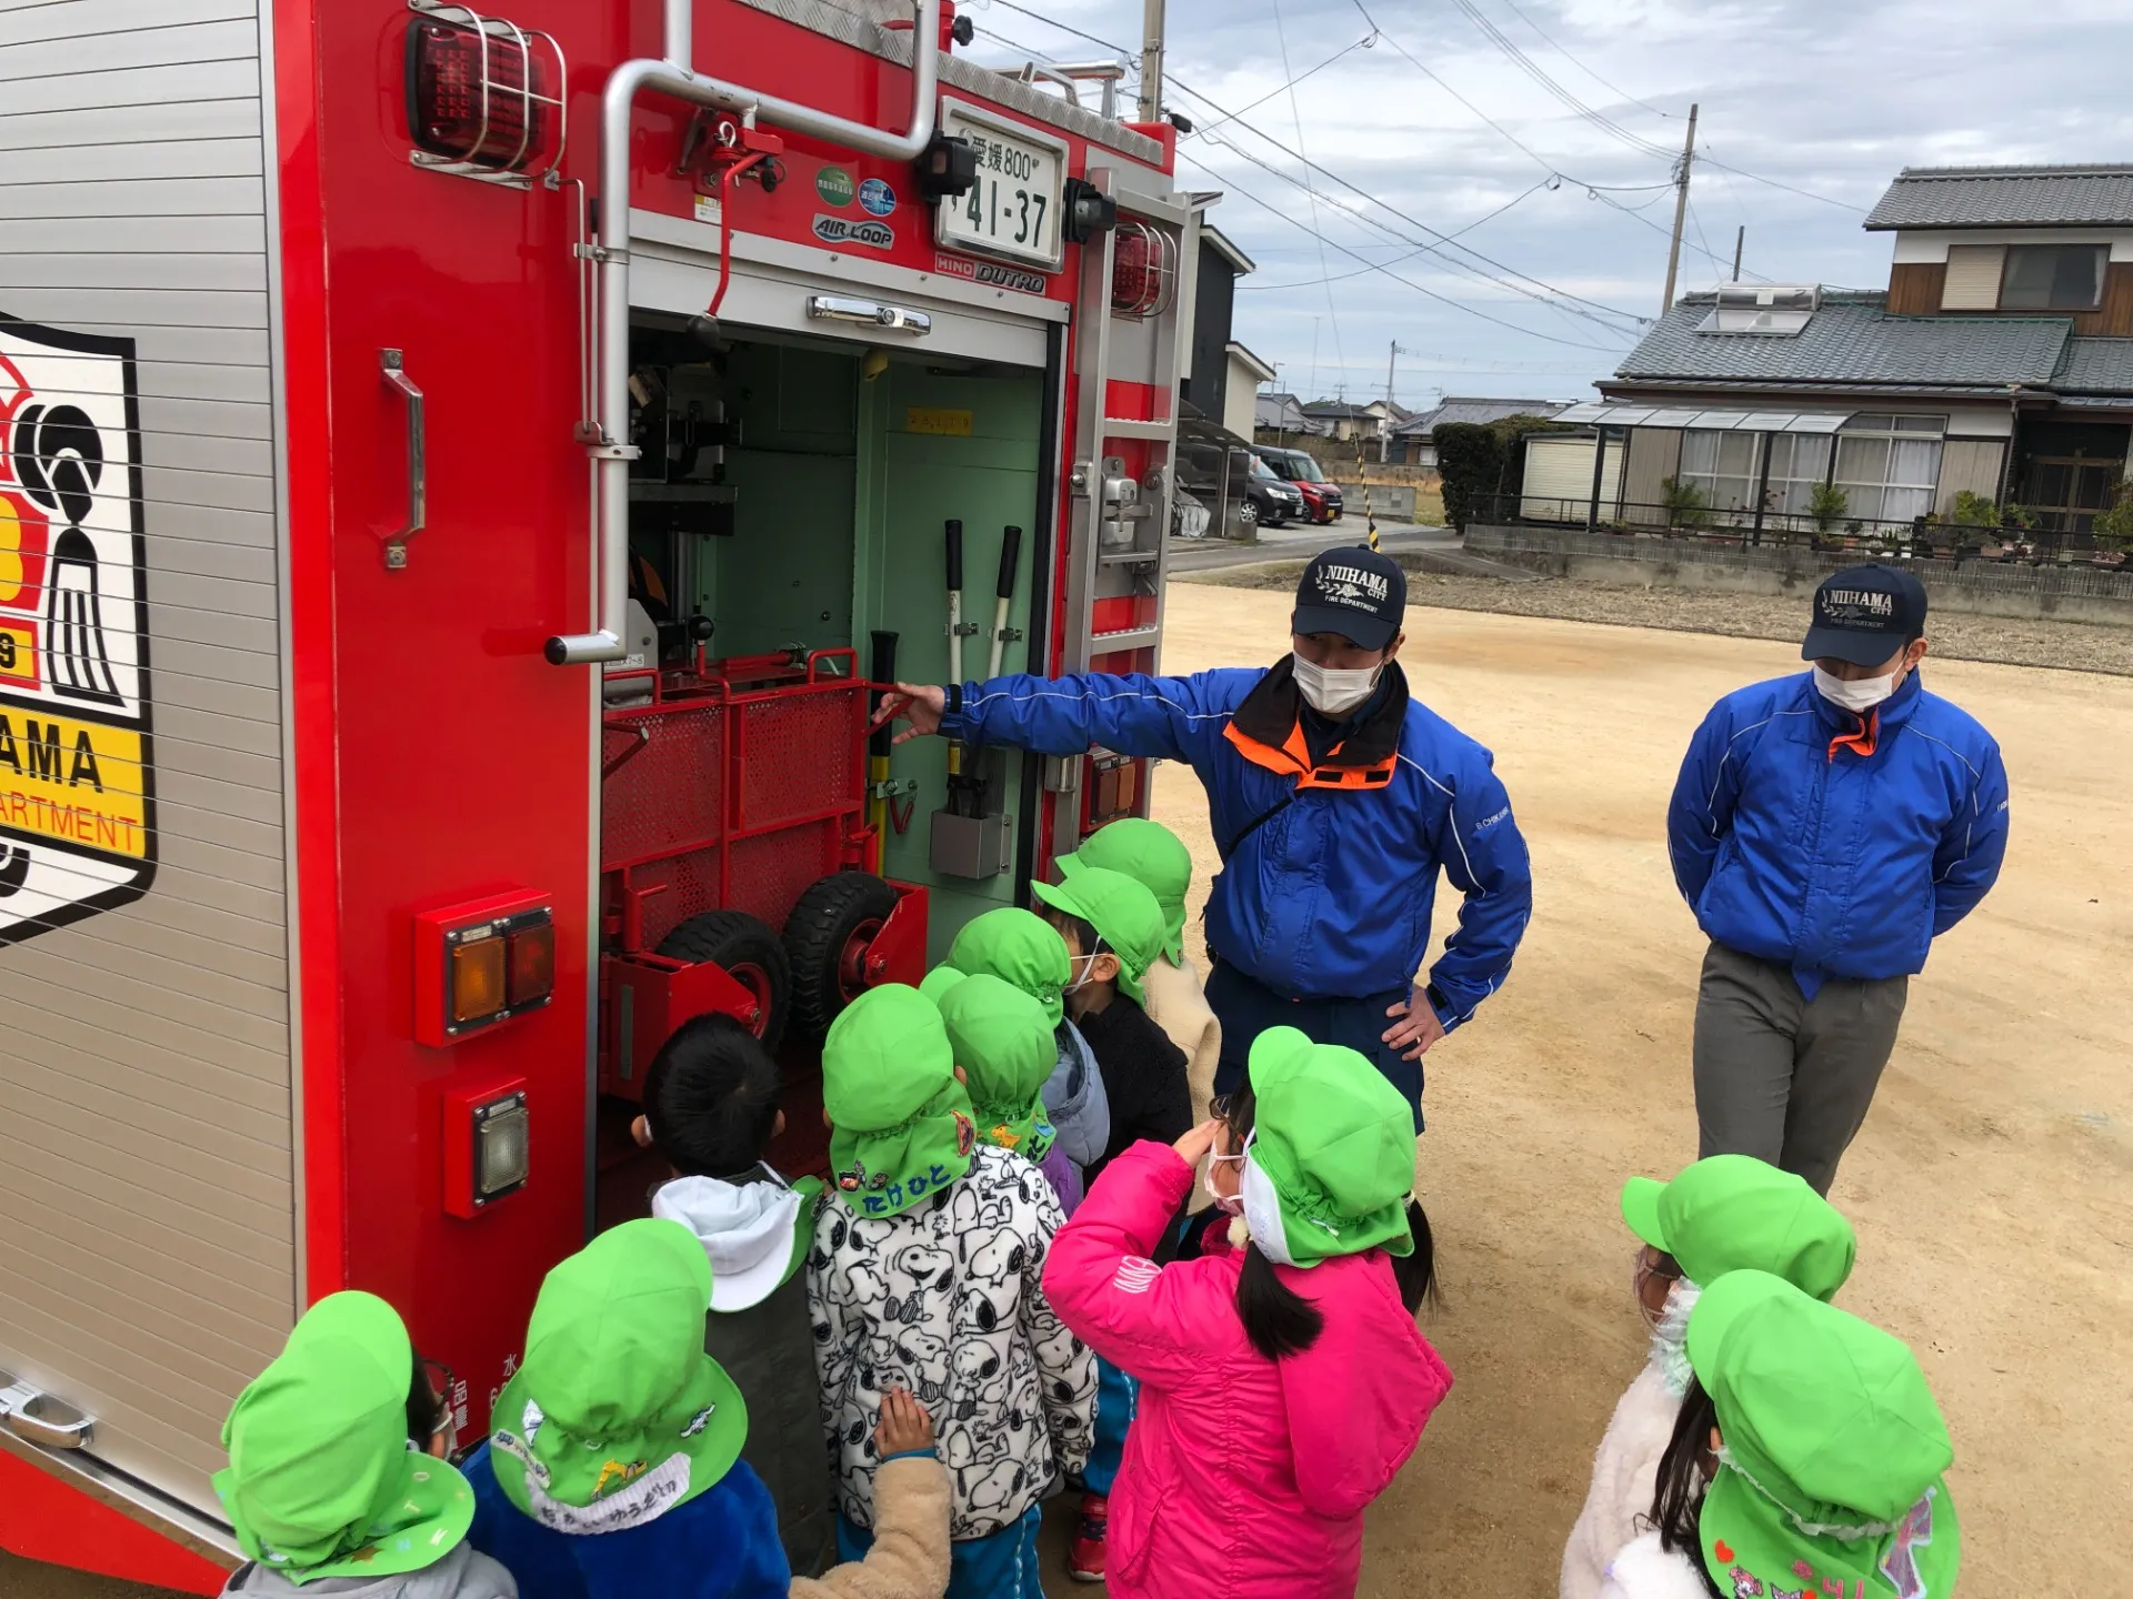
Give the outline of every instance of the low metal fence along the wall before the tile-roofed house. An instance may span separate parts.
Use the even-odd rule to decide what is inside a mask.
[[[1482,495],[1474,522],[1497,527],[1578,529],[1587,533],[1636,533],[1717,544],[1732,548],[1805,548],[1828,554],[1907,554],[1956,561],[2016,561],[2031,565],[2095,565],[2118,569],[2127,552],[2099,542],[2095,533],[2063,529],[1973,527],[1941,516],[1881,520],[1873,516],[1807,516],[1785,512],[1713,510],[1702,505],[1638,505],[1627,501],[1544,495]]]

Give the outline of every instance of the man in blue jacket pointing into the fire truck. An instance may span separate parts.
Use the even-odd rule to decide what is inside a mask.
[[[1244,1079],[1265,1028],[1293,1025],[1369,1055],[1421,1132],[1421,1057],[1504,983],[1534,889],[1489,750],[1408,695],[1393,659],[1406,603],[1397,561],[1327,550],[1273,667],[898,684],[879,721],[907,716],[898,738],[1188,763],[1222,857],[1207,898],[1216,1092]],[[1459,932],[1416,985],[1440,870],[1465,895]]]

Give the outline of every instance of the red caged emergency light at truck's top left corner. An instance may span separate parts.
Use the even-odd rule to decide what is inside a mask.
[[[407,134],[416,164],[503,181],[552,173],[563,158],[557,43],[467,6],[416,0],[414,11]]]

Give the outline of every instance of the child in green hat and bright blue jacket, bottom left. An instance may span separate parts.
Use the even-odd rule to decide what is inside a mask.
[[[525,1360],[467,1460],[474,1546],[523,1599],[755,1599],[791,1573],[749,1409],[704,1354],[710,1262],[678,1222],[602,1232],[548,1273]]]

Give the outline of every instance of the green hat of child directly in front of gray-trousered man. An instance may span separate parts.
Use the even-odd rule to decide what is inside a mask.
[[[1700,1286],[1728,1271],[1768,1271],[1830,1298],[1858,1254],[1858,1234],[1834,1205],[1753,1156],[1711,1156],[1670,1183],[1632,1177],[1621,1185],[1621,1220]]]

